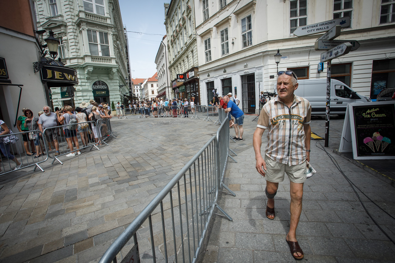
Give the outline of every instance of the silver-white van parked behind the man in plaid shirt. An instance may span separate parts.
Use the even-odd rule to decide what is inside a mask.
[[[312,107],[312,115],[325,115],[326,112],[326,78],[298,80],[299,86],[294,94],[307,99]],[[331,114],[346,114],[348,103],[371,102],[339,80],[331,79]]]

